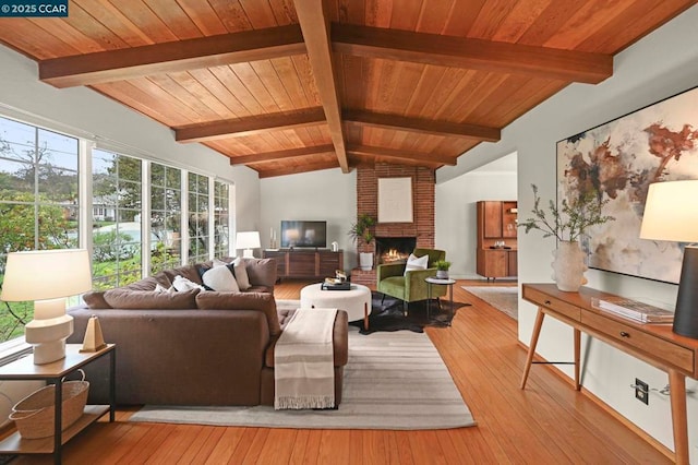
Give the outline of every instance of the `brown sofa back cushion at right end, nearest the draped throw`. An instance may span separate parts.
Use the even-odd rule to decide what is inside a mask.
[[[205,290],[196,295],[196,307],[201,310],[257,310],[264,312],[269,334],[281,333],[276,313],[274,296],[265,293],[218,293]]]

